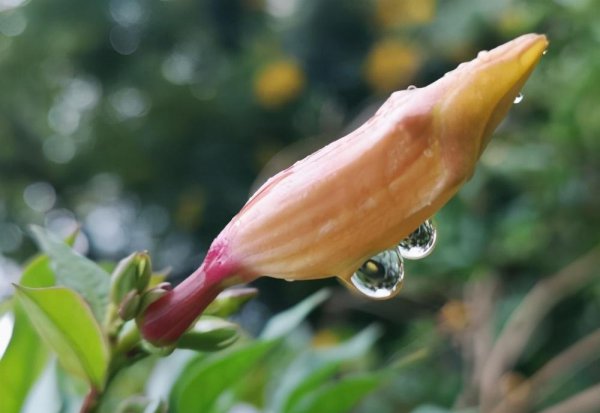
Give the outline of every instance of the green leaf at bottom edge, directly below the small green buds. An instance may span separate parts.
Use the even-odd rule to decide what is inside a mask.
[[[208,412],[218,397],[230,389],[275,344],[256,341],[216,357],[190,363],[171,392],[171,407],[176,413]]]

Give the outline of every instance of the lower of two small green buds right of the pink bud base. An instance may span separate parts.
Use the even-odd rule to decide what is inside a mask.
[[[196,351],[218,351],[229,347],[239,337],[237,324],[217,317],[202,317],[191,330],[186,331],[177,348]]]

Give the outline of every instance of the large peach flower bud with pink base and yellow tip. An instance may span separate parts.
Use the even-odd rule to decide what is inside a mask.
[[[527,34],[429,86],[395,92],[357,130],[269,179],[200,268],[148,307],[144,337],[176,341],[220,291],[262,275],[350,284],[471,177],[547,45]]]

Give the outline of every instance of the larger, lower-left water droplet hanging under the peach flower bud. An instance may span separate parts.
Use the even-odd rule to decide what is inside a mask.
[[[404,262],[397,248],[385,250],[369,258],[352,275],[350,282],[369,298],[386,299],[400,292],[404,278]]]

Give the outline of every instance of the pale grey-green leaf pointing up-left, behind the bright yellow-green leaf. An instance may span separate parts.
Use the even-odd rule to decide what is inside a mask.
[[[45,229],[33,226],[31,231],[52,260],[56,284],[80,293],[90,304],[96,320],[102,321],[108,304],[109,274]]]

